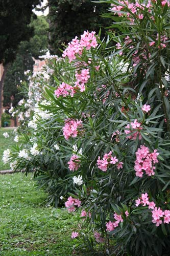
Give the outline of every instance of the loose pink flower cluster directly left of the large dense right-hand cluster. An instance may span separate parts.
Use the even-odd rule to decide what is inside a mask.
[[[107,171],[107,168],[108,168],[108,165],[109,164],[116,164],[116,162],[118,162],[118,159],[114,156],[112,156],[112,151],[110,151],[108,154],[106,153],[103,157],[103,159],[101,159],[101,157],[99,156],[98,157],[98,160],[97,160],[97,165],[98,165],[98,168],[103,170],[103,172],[106,172]],[[120,168],[123,168],[123,162],[119,162],[117,164],[117,168],[120,169]]]

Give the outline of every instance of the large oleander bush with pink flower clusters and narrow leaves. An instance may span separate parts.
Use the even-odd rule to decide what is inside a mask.
[[[10,157],[47,182],[51,202],[64,198],[69,212],[80,212],[76,248],[95,255],[101,243],[108,255],[169,255],[170,4],[100,2],[111,4],[108,37],[86,31],[64,59],[47,61],[36,127]]]

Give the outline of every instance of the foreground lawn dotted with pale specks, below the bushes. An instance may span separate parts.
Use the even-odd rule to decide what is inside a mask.
[[[45,207],[45,194],[34,189],[31,174],[1,175],[0,184],[0,255],[72,255],[78,217]]]

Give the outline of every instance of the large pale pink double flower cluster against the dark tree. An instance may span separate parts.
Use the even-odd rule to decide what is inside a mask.
[[[91,33],[89,31],[84,31],[84,33],[81,35],[81,39],[79,40],[76,36],[74,39],[72,39],[71,42],[68,43],[68,47],[63,52],[63,57],[68,57],[69,62],[76,59],[76,55],[82,55],[83,47],[86,48],[86,50],[90,50],[91,48],[95,48],[98,46],[98,43],[95,38],[95,32],[92,31]]]

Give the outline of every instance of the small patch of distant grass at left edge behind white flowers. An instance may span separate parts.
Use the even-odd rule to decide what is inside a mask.
[[[5,138],[3,133],[7,132],[9,134],[9,138]],[[4,164],[2,157],[3,153],[7,148],[11,148],[16,142],[14,141],[15,133],[13,129],[9,128],[1,128],[0,129],[0,170],[10,169],[9,164]]]

